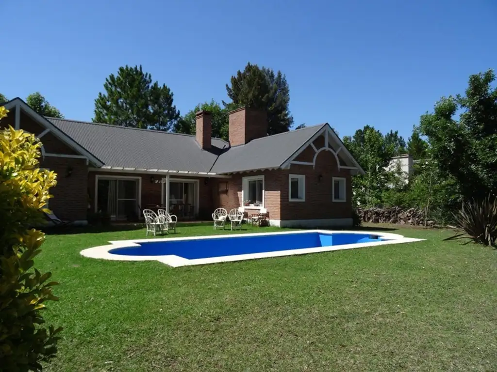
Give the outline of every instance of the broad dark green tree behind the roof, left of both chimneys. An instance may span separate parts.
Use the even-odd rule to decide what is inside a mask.
[[[170,130],[179,119],[171,90],[153,82],[141,65],[119,67],[117,76],[110,74],[103,87],[105,93],[95,99],[94,122]]]

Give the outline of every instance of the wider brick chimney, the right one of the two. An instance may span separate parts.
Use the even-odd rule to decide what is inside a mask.
[[[262,110],[241,107],[230,114],[230,145],[244,145],[267,135],[267,115]]]

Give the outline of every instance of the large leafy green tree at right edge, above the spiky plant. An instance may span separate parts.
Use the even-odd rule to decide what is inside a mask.
[[[442,97],[420,120],[429,156],[464,199],[497,192],[497,88],[493,70],[471,75],[466,95]],[[459,120],[456,114],[461,113]]]

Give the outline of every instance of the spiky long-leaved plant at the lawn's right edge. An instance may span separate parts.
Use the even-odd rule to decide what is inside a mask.
[[[447,240],[468,238],[471,241],[497,248],[497,197],[489,195],[483,200],[463,203],[454,213],[454,226],[459,233]],[[469,243],[469,242],[468,242]]]

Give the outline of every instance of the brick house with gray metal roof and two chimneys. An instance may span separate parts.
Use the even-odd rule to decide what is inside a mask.
[[[4,104],[1,127],[34,133],[41,167],[57,173],[49,208],[86,224],[163,206],[178,218],[210,218],[215,208],[266,208],[274,226],[352,223],[351,177],[364,171],[329,124],[267,136],[265,114],[229,115],[229,141],[211,138],[211,115],[196,116],[196,135],[45,118],[20,98]]]

